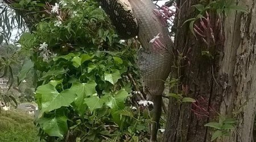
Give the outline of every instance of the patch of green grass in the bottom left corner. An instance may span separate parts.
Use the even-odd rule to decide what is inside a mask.
[[[2,111],[0,141],[38,141],[32,116],[22,111]]]

